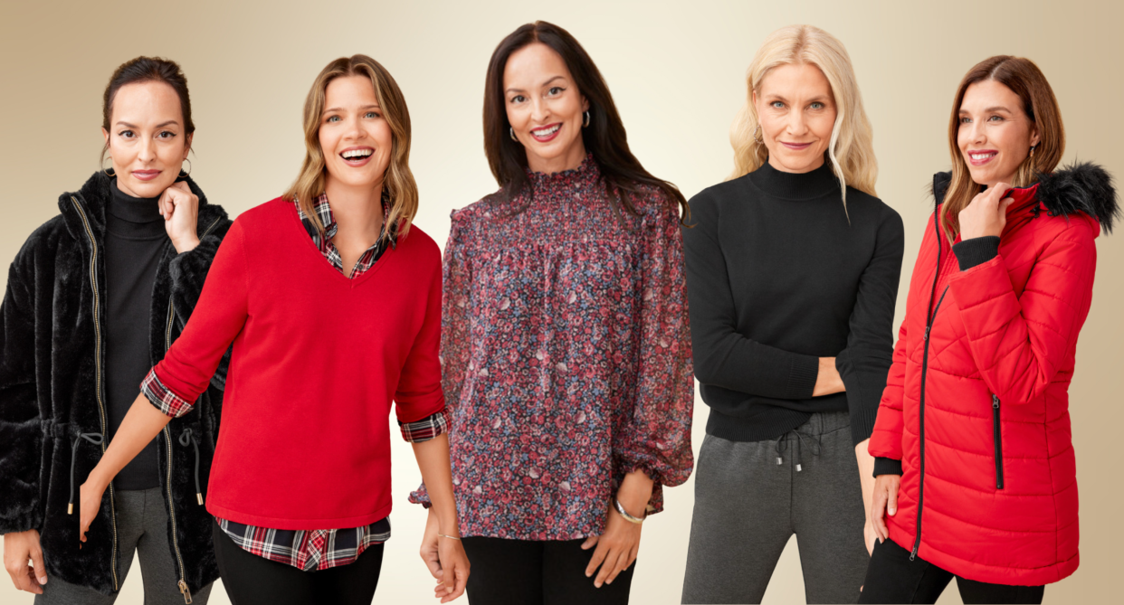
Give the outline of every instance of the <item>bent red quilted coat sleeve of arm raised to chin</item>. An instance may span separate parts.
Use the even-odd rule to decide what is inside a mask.
[[[1003,255],[954,275],[949,293],[963,318],[968,348],[984,383],[1001,401],[1042,395],[1071,355],[1093,301],[1097,248],[1084,224],[1039,254],[1022,295]]]

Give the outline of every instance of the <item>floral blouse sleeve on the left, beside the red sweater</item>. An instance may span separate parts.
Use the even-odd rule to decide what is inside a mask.
[[[441,322],[441,384],[445,394],[445,414],[448,418],[446,432],[452,433],[453,418],[461,402],[472,352],[469,340],[469,310],[471,309],[472,268],[465,247],[463,219],[453,213],[453,224],[445,244],[442,258],[442,322]],[[452,434],[450,434],[452,439]],[[410,502],[429,507],[429,493],[425,484],[410,493]]]

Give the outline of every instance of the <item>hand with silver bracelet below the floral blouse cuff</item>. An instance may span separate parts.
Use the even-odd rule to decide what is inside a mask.
[[[647,502],[652,499],[653,482],[641,470],[634,470],[625,475],[617,491],[617,499],[620,505],[628,511],[628,514],[643,519],[647,508]],[[605,520],[605,533],[601,535],[590,535],[582,542],[582,550],[597,547],[593,556],[586,566],[586,577],[593,579],[593,586],[600,588],[602,584],[613,584],[625,569],[628,569],[636,561],[636,553],[640,552],[640,532],[642,524],[626,520],[617,512],[613,504],[609,504]],[[597,568],[601,570],[598,571]]]

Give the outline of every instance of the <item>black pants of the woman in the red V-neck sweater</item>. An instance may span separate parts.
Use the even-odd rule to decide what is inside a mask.
[[[234,605],[369,605],[374,598],[382,569],[382,544],[368,548],[351,565],[301,571],[243,550],[218,523],[211,524],[211,534],[223,587]]]

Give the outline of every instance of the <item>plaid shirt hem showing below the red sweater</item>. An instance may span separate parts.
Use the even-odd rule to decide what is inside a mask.
[[[347,530],[272,530],[215,520],[243,550],[301,571],[354,562],[368,547],[390,539],[389,519]]]

